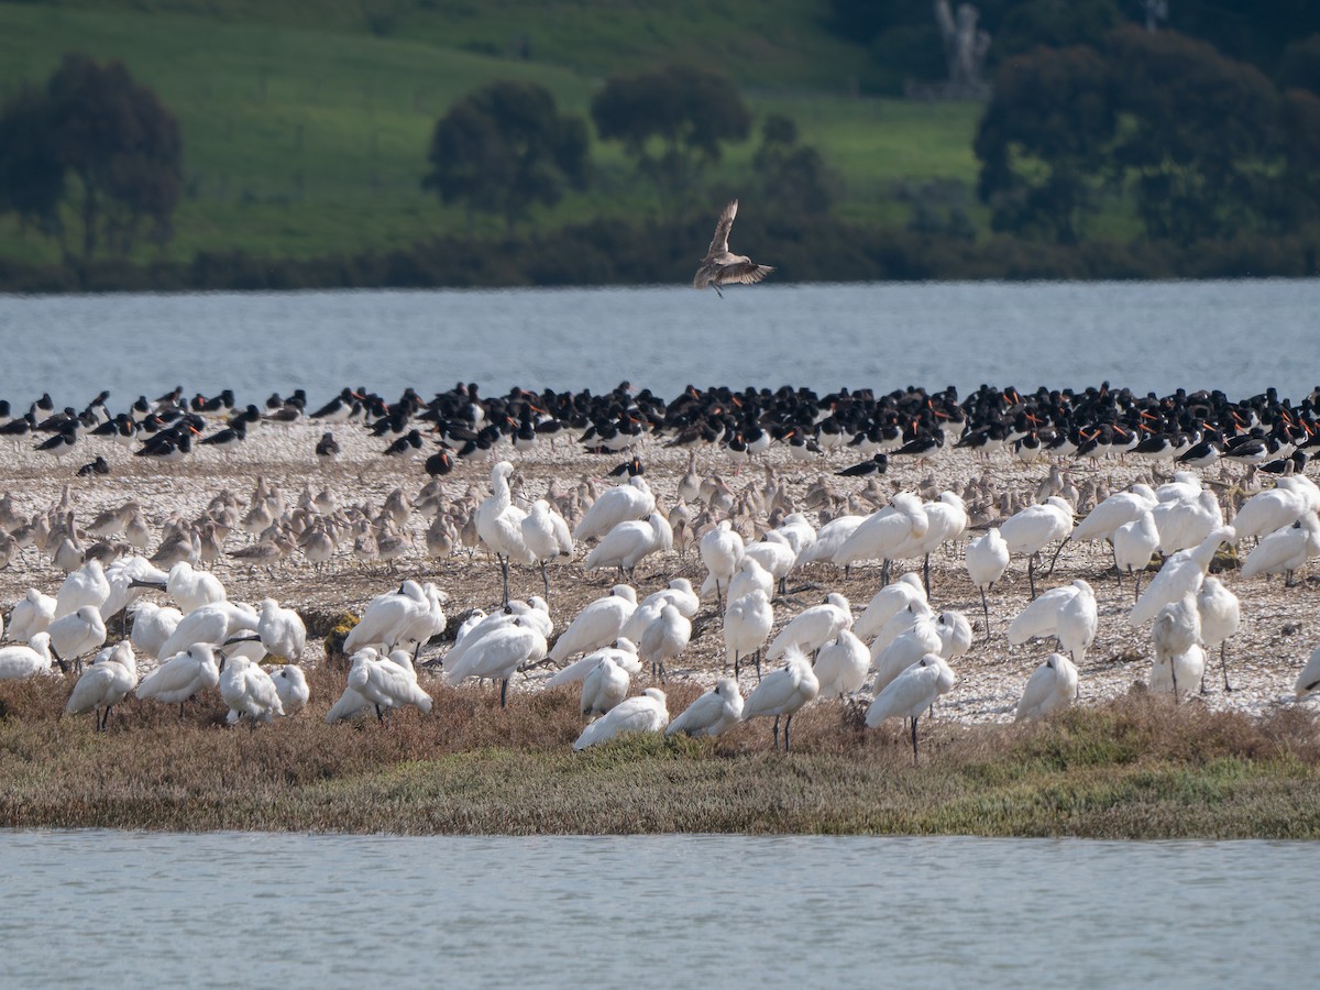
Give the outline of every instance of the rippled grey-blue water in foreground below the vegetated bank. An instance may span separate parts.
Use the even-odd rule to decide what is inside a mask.
[[[1311,843],[0,833],[9,986],[1304,986]]]

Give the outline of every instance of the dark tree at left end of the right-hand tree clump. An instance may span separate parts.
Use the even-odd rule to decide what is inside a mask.
[[[1040,48],[1001,66],[974,144],[995,230],[1077,242],[1110,161],[1110,88],[1089,48]]]

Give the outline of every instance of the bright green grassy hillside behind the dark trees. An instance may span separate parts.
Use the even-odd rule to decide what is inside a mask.
[[[739,33],[719,25],[760,11],[741,0],[678,4],[680,16],[671,11],[663,20],[647,5],[627,8],[623,17],[594,16],[599,4],[587,0],[566,5],[574,16],[558,5],[553,17],[533,4],[437,0],[430,12],[393,5],[401,13],[388,37],[363,32],[358,3],[240,1],[226,5],[224,21],[199,16],[195,11],[206,5],[189,0],[140,4],[154,7],[148,13],[119,7],[108,0],[74,9],[0,3],[0,92],[24,81],[40,83],[62,53],[75,49],[123,59],[152,86],[183,125],[189,191],[166,248],[176,259],[235,247],[268,256],[354,253],[461,228],[459,211],[418,187],[430,129],[454,99],[496,78],[535,79],[562,108],[585,115],[597,73],[657,61],[663,51],[727,57],[758,114],[793,116],[803,139],[822,149],[843,182],[841,215],[892,218],[896,207],[886,193],[895,180],[970,181],[974,174],[970,137],[978,110],[847,96],[841,78],[861,59],[814,26],[810,4],[771,5],[758,16],[755,33]],[[325,16],[313,16],[313,7]],[[454,13],[459,8],[474,13],[462,17]],[[280,22],[263,22],[271,16]],[[546,61],[462,50],[499,49],[495,38],[524,22],[532,25],[525,33],[533,54]],[[572,69],[553,63],[570,55]],[[820,78],[822,71],[830,78]],[[737,185],[752,145],[731,148],[719,177]],[[626,189],[618,149],[598,145],[593,153],[605,185]],[[576,197],[548,219],[638,207],[652,205],[638,193],[603,203]],[[54,256],[44,239],[20,242],[16,224],[0,220],[0,255],[34,253]]]

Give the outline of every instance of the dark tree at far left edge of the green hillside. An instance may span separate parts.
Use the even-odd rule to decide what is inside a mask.
[[[0,114],[0,203],[61,240],[70,264],[102,247],[123,256],[141,234],[164,243],[182,191],[178,123],[119,62],[65,55],[45,92],[28,91]],[[66,239],[59,205],[81,227]]]

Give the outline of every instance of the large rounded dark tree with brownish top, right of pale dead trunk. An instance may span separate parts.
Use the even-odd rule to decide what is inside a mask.
[[[1125,119],[1115,165],[1135,176],[1147,235],[1189,244],[1258,222],[1278,148],[1270,81],[1173,32],[1121,28],[1107,54]]]

